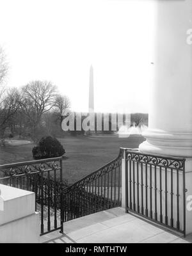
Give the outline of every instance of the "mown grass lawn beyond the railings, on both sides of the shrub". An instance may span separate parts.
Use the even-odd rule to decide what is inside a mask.
[[[118,156],[120,147],[137,148],[142,136],[118,138],[118,136],[77,136],[59,139],[67,157],[63,161],[63,177],[69,184],[94,172]],[[33,143],[0,147],[0,164],[33,160]]]

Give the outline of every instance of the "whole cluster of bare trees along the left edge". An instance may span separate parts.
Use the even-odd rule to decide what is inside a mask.
[[[8,63],[0,48],[0,138],[16,133],[37,142],[42,136],[61,130],[62,115],[70,108],[68,97],[58,93],[50,81],[6,88],[3,84],[7,74]]]

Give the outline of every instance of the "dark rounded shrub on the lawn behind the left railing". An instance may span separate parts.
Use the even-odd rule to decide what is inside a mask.
[[[59,157],[65,154],[65,149],[60,141],[51,136],[43,137],[38,145],[32,149],[34,159]]]

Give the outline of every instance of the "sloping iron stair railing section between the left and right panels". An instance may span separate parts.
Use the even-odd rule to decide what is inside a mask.
[[[63,221],[121,205],[121,154],[63,191]]]

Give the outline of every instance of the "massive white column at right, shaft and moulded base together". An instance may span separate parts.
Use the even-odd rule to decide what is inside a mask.
[[[192,0],[156,0],[149,127],[140,150],[192,157]]]

